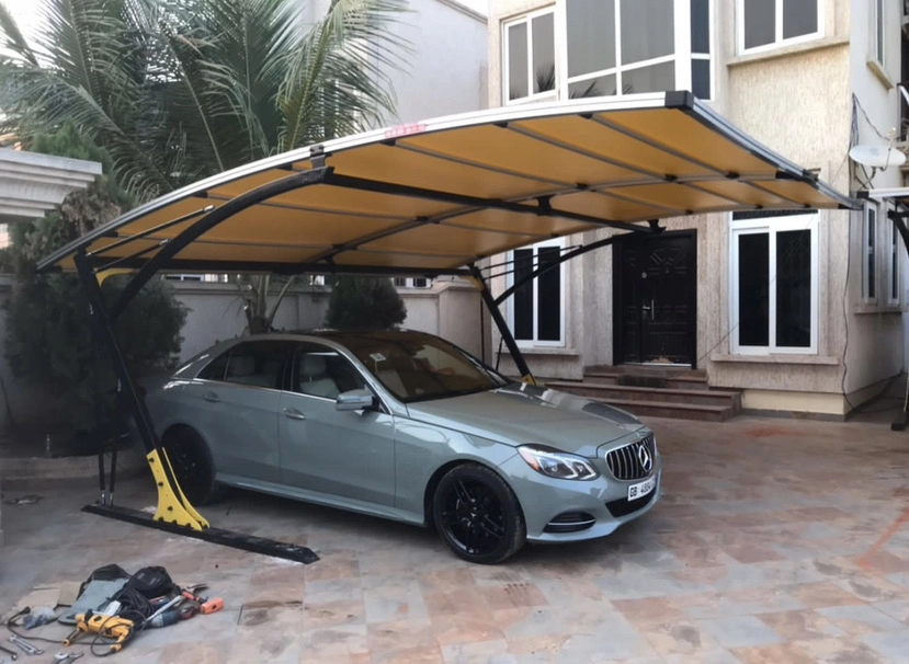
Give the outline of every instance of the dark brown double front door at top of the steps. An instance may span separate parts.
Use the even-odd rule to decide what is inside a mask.
[[[697,236],[694,231],[615,243],[615,364],[695,366]]]

